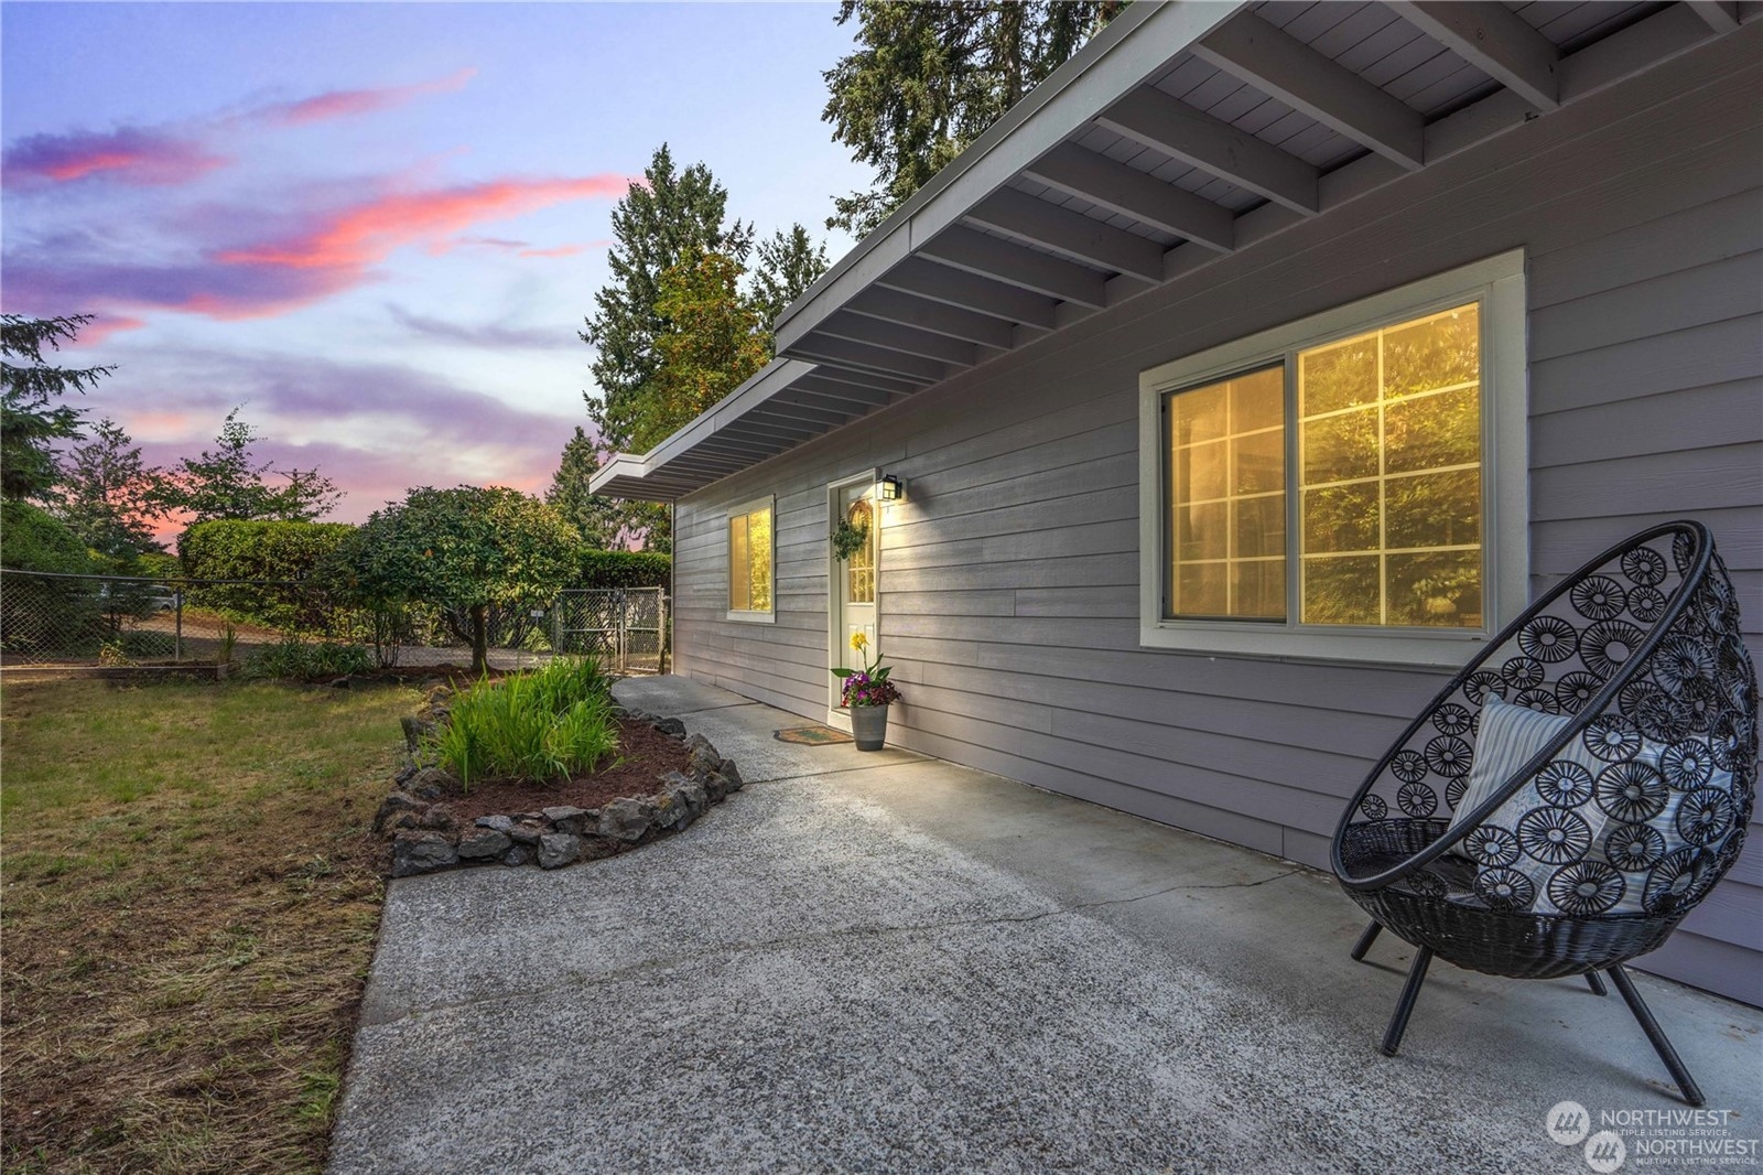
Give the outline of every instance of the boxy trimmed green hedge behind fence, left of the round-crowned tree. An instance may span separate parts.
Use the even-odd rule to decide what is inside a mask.
[[[354,531],[347,522],[197,522],[178,540],[178,561],[190,579],[275,579],[298,586],[215,584],[192,588],[190,603],[272,628],[321,621],[324,607],[316,572]]]

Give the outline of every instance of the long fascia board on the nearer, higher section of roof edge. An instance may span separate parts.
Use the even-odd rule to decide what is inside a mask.
[[[1127,5],[1072,60],[1030,90],[1028,97],[792,302],[777,316],[777,351],[788,351],[790,344],[843,309],[876,277],[1245,7],[1241,0]]]

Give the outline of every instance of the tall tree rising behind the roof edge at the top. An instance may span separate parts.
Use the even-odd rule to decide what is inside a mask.
[[[827,228],[862,235],[1058,69],[1123,0],[843,0],[860,48],[825,72],[822,120],[874,187],[834,198]]]

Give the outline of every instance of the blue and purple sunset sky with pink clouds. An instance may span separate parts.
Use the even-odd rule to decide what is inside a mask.
[[[862,187],[820,122],[830,4],[0,5],[0,302],[99,314],[92,416],[150,460],[234,404],[365,519],[543,490],[610,212],[652,150],[762,235]]]

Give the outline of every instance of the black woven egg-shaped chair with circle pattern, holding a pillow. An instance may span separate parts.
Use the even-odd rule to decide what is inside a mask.
[[[1416,947],[1384,1052],[1433,956],[1513,979],[1583,976],[1597,995],[1603,972],[1700,1106],[1622,965],[1663,946],[1738,859],[1756,723],[1738,602],[1698,522],[1611,547],[1495,637],[1335,831],[1335,875],[1373,919],[1352,958],[1382,930]]]

